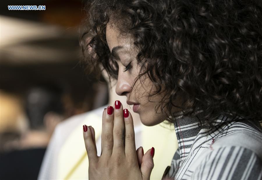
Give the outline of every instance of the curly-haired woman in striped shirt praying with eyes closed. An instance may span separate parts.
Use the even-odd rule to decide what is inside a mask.
[[[258,1],[93,0],[86,7],[88,67],[102,65],[117,79],[117,94],[143,124],[175,125],[179,149],[167,177],[261,179]],[[150,178],[154,148],[135,150],[132,123],[120,102],[105,109],[99,157],[95,131],[84,126],[90,179]]]

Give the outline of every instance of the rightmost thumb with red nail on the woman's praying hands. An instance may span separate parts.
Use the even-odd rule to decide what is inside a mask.
[[[144,154],[142,158],[142,163],[140,168],[142,179],[150,179],[150,175],[154,167],[154,161],[153,161],[154,154],[155,154],[155,148],[152,147]]]

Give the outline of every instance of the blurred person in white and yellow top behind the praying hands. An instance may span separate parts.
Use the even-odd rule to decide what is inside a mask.
[[[113,105],[115,100],[121,101],[124,108],[128,108],[126,97],[116,94],[116,81],[109,83],[107,73],[102,73],[107,81],[109,91],[108,104],[95,110],[75,115],[56,126],[54,134],[47,147],[43,163],[40,168],[38,179],[88,179],[88,157],[83,143],[83,124],[90,124],[96,129],[95,139],[97,152],[101,154],[101,133],[102,133],[102,113],[109,105]],[[96,95],[95,101],[105,97],[104,84],[96,86],[100,93]],[[153,127],[144,126],[139,118],[139,114],[132,114],[134,119],[134,132],[136,138],[137,153],[142,154],[143,148],[155,147],[154,155],[155,168],[152,171],[152,179],[161,179],[165,169],[169,170],[170,159],[174,156],[174,149],[178,147],[174,128],[166,126],[164,123]],[[172,129],[173,128],[173,129]],[[157,133],[156,133],[157,132]],[[159,138],[159,134],[165,136],[165,140]],[[164,148],[164,147],[169,148]],[[163,154],[169,158],[162,158]]]

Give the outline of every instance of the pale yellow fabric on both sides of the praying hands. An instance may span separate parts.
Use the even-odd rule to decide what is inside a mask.
[[[93,126],[95,138],[102,133],[102,117],[89,114],[79,126],[72,130],[64,143],[58,158],[58,179],[86,179],[88,177],[88,157],[83,139],[83,125]],[[163,125],[163,123],[161,123]],[[151,179],[161,179],[165,168],[171,165],[172,158],[178,147],[176,133],[160,125],[147,127],[142,125],[142,144],[144,152],[155,148],[154,168]]]

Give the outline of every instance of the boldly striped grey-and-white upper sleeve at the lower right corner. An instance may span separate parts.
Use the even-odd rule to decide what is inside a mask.
[[[261,179],[262,161],[241,146],[221,146],[208,150],[199,159],[191,179]]]

